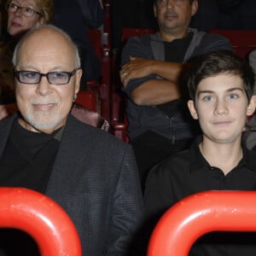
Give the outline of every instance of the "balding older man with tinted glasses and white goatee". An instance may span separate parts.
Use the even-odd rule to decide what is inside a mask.
[[[129,145],[70,114],[82,75],[76,45],[43,26],[20,40],[13,62],[20,113],[0,121],[0,186],[34,189],[59,203],[83,255],[134,255],[143,215],[136,161]],[[38,255],[27,240],[20,242],[25,252],[15,246],[17,231],[12,238],[14,255]]]

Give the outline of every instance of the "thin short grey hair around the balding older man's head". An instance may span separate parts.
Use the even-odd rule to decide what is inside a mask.
[[[35,28],[32,28],[29,32],[26,32],[24,37],[22,37],[20,39],[19,43],[16,44],[16,46],[15,46],[15,52],[14,52],[13,60],[12,60],[14,67],[16,67],[16,65],[17,65],[18,55],[20,54],[20,48],[21,48],[22,44],[24,43],[24,41],[26,40],[26,38],[28,38],[33,32],[37,32],[38,30],[40,30],[44,27],[51,28],[51,29],[55,30],[55,32],[59,32],[64,38],[67,38],[67,40],[72,44],[73,50],[75,53],[75,68],[81,67],[78,46],[73,43],[73,40],[70,38],[70,36],[67,34],[67,32],[64,32],[60,28],[53,26],[53,25],[44,25],[44,26],[35,27]]]

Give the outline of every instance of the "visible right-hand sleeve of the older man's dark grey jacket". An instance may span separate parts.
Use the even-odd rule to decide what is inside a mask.
[[[131,147],[123,154],[113,194],[108,255],[133,255],[135,237],[143,221],[143,198]]]

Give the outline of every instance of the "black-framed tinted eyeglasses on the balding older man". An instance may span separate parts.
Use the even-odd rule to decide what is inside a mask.
[[[39,73],[35,71],[26,70],[15,70],[15,77],[22,84],[39,84],[42,77],[46,77],[49,84],[61,85],[68,84],[73,75],[79,70],[79,68],[74,69],[72,72],[65,71],[55,71],[49,73]]]

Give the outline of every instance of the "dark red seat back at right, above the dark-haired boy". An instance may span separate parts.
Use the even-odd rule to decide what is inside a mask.
[[[209,32],[228,38],[236,54],[241,57],[246,57],[249,52],[256,49],[256,30],[212,29]]]

